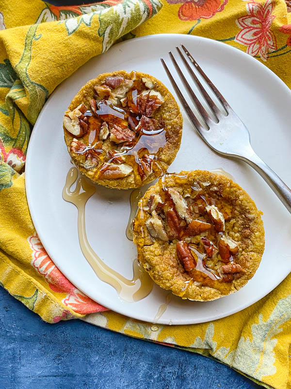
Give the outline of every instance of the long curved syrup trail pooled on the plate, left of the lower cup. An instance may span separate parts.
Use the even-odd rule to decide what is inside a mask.
[[[133,302],[145,298],[152,290],[153,281],[137,260],[133,262],[133,278],[128,280],[106,265],[90,246],[85,230],[85,205],[89,198],[94,195],[96,188],[89,184],[84,177],[77,178],[78,169],[71,167],[66,177],[63,198],[78,209],[78,234],[84,257],[97,277],[113,286],[121,299]],[[76,181],[76,188],[71,191],[70,188]]]

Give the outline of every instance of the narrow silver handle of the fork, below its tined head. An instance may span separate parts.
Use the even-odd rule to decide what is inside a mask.
[[[291,213],[291,189],[281,180],[280,177],[253,151],[251,156],[240,159],[251,165],[261,177],[267,182],[277,197],[282,201],[288,211]]]

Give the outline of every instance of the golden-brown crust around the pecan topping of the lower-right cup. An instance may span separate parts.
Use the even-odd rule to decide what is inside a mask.
[[[178,240],[154,239],[146,227],[146,221],[151,217],[149,211],[146,211],[151,195],[162,196],[162,187],[175,188],[183,195],[189,187],[192,185],[195,187],[197,183],[203,189],[204,195],[216,201],[218,208],[224,204],[231,209],[231,217],[225,221],[224,233],[238,245],[235,262],[244,271],[241,272],[240,278],[234,277],[231,282],[210,280],[209,277],[200,277],[199,281],[196,281],[197,278],[195,280],[191,272],[186,272],[178,259],[176,250]],[[202,183],[206,185],[203,186]],[[264,251],[264,228],[260,215],[261,212],[258,211],[250,196],[225,176],[201,170],[165,176],[151,186],[139,202],[139,210],[134,220],[133,238],[137,246],[138,260],[158,285],[171,290],[183,299],[196,301],[218,299],[242,288],[254,276]],[[200,235],[190,238],[192,244],[198,244],[200,239]],[[218,258],[216,263],[207,262],[216,274],[222,265],[226,265],[220,256]],[[241,268],[240,266],[237,267]],[[196,271],[196,274],[198,273]]]

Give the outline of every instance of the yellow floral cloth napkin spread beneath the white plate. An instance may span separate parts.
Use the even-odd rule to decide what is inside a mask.
[[[266,388],[291,388],[291,276],[249,308],[213,322],[166,326],[108,311],[70,283],[34,230],[25,195],[32,126],[49,94],[120,39],[206,36],[258,58],[291,87],[291,14],[283,0],[106,0],[56,7],[0,0],[0,284],[44,320],[82,318],[204,354]]]

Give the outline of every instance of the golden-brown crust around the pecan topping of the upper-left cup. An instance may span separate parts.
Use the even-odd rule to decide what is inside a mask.
[[[94,95],[96,93],[94,86],[101,85],[102,83],[104,83],[106,77],[108,76],[121,76],[126,79],[129,79],[130,73],[128,73],[127,71],[114,71],[112,73],[103,73],[100,74],[97,78],[88,81],[73,98],[70,106],[65,112],[65,115],[67,115],[68,112],[74,110],[82,103],[85,104],[87,108],[90,108],[90,100],[94,98]],[[154,112],[152,118],[162,121],[163,128],[166,131],[166,142],[162,148],[162,151],[158,155],[158,160],[157,160],[158,164],[156,163],[153,164],[152,173],[148,177],[146,177],[146,179],[142,181],[141,176],[138,173],[137,164],[134,163],[132,158],[130,159],[130,157],[133,156],[129,156],[129,161],[126,160],[126,162],[133,167],[133,172],[128,177],[122,177],[116,179],[98,178],[97,171],[100,168],[102,163],[100,162],[96,168],[90,170],[85,169],[84,156],[70,151],[70,145],[72,140],[74,139],[74,136],[69,131],[67,131],[63,126],[65,132],[65,143],[67,145],[68,152],[72,160],[80,170],[80,172],[85,176],[89,177],[93,182],[96,182],[100,185],[104,185],[110,188],[116,188],[116,189],[137,188],[153,181],[156,177],[160,177],[161,169],[163,172],[165,172],[168,166],[175,159],[181,142],[183,119],[178,104],[176,103],[172,94],[162,84],[161,81],[157,80],[155,77],[151,75],[141,73],[141,72],[135,72],[135,76],[137,79],[141,79],[142,77],[150,78],[154,83],[156,83],[155,90],[160,92],[164,100],[162,106]],[[84,137],[78,138],[78,140],[83,141],[84,143],[88,142],[88,134],[85,135]],[[112,150],[114,148],[116,149],[116,144],[110,141],[108,138],[106,141],[103,142],[102,148],[105,151]]]

